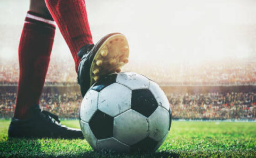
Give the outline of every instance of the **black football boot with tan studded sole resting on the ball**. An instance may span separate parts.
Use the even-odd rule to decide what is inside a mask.
[[[121,72],[128,63],[129,46],[121,33],[110,33],[96,45],[85,45],[78,51],[81,62],[78,66],[77,81],[84,97],[90,86],[103,75]]]

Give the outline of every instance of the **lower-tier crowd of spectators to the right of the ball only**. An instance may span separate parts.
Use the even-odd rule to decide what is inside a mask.
[[[184,119],[256,119],[256,93],[167,93],[172,115]]]

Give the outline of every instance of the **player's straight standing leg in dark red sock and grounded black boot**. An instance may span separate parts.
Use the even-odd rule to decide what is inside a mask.
[[[61,126],[58,117],[39,109],[55,23],[44,0],[31,0],[19,44],[19,84],[9,137],[83,138],[81,130]],[[53,120],[56,121],[53,121]]]

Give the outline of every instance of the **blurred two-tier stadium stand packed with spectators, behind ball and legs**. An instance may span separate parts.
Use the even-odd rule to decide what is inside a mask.
[[[161,85],[170,101],[173,118],[256,119],[253,59],[163,65],[131,63],[123,71],[141,73]],[[62,118],[78,118],[82,97],[76,76],[73,60],[52,59],[41,96],[42,110]],[[0,117],[13,116],[18,77],[17,60],[0,60]]]

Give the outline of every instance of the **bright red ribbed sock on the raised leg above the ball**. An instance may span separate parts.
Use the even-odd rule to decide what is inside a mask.
[[[45,2],[68,44],[77,72],[80,63],[78,50],[84,45],[93,43],[85,2],[83,0],[45,0]]]

